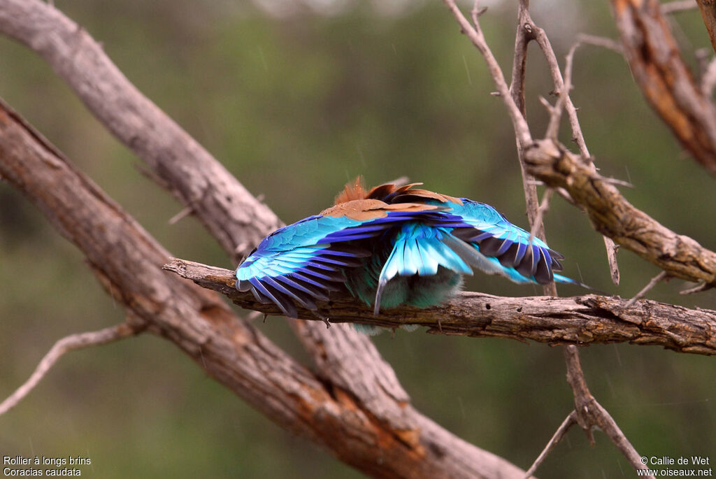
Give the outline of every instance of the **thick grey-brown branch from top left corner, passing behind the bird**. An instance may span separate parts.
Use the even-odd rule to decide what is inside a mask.
[[[97,42],[57,9],[39,0],[0,0],[0,32],[44,57],[92,113],[150,168],[221,243],[235,262],[281,225],[221,164],[147,100]],[[347,390],[367,414],[405,425],[408,400],[389,364],[367,337],[349,328],[295,325],[324,383]],[[343,345],[341,349],[326,344]],[[362,374],[347,374],[349,371]],[[435,427],[437,427],[435,425]],[[453,437],[449,433],[440,437]],[[455,437],[453,437],[456,440]]]

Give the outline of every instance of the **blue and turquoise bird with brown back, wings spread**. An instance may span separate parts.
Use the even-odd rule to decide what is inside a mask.
[[[495,208],[418,188],[361,177],[334,205],[277,229],[236,268],[236,288],[291,318],[347,291],[373,313],[401,305],[427,308],[462,289],[476,268],[518,284],[586,284],[555,271],[564,257]],[[326,318],[321,317],[329,325]]]

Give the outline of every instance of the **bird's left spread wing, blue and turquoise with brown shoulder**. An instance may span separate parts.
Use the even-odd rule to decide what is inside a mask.
[[[340,289],[342,271],[370,256],[364,240],[381,236],[398,223],[420,218],[440,223],[440,205],[388,204],[352,200],[284,226],[259,243],[236,270],[236,287],[252,291],[258,301],[272,302],[296,317],[294,302],[316,311],[316,300]]]

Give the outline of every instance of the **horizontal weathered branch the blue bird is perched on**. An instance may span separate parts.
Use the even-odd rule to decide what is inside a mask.
[[[164,266],[204,288],[228,296],[243,308],[279,314],[273,304],[261,304],[251,293],[234,287],[233,271],[172,258]],[[614,296],[505,298],[465,292],[443,306],[429,309],[388,309],[374,316],[372,309],[348,294],[319,303],[319,312],[332,322],[359,322],[396,328],[419,324],[435,334],[531,339],[548,344],[629,342],[663,346],[679,352],[716,354],[716,311],[637,301],[625,309],[627,299]],[[306,309],[301,319],[320,320]]]

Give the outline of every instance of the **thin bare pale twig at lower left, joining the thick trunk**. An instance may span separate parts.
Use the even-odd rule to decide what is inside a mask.
[[[34,388],[42,381],[42,378],[54,366],[64,353],[74,349],[82,349],[91,346],[100,346],[110,342],[119,341],[127,337],[137,334],[138,330],[135,326],[128,323],[116,324],[100,331],[87,333],[70,334],[54,344],[52,349],[47,352],[37,364],[32,376],[27,379],[24,384],[18,387],[6,400],[0,403],[0,416],[11,410],[19,404],[26,395],[34,390]]]

